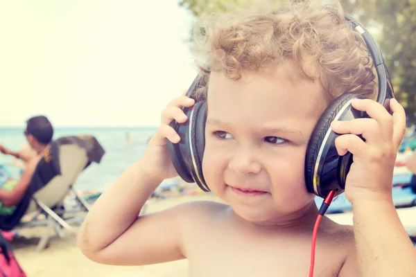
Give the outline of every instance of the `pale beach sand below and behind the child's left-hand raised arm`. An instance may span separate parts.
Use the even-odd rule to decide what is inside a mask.
[[[159,211],[188,201],[214,200],[216,197],[210,194],[185,195],[170,199],[150,200],[146,205],[146,213]],[[64,238],[53,238],[49,247],[41,252],[36,251],[36,244],[44,229],[24,229],[19,231],[19,236],[12,242],[15,256],[28,277],[69,277],[69,276],[188,276],[187,260],[166,262],[158,265],[146,265],[141,267],[121,267],[101,265],[92,262],[83,256],[76,247],[76,235],[64,233]]]

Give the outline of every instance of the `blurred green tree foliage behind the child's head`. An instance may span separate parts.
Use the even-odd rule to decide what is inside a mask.
[[[234,12],[255,0],[180,0],[180,6],[200,17]],[[278,0],[275,0],[278,1]],[[299,0],[297,0],[299,1]],[[416,0],[340,0],[378,42],[392,75],[397,99],[416,123]]]

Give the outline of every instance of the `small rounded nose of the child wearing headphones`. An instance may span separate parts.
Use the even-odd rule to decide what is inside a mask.
[[[255,159],[254,151],[250,148],[240,147],[232,155],[228,168],[241,173],[257,174],[261,170],[260,163]]]

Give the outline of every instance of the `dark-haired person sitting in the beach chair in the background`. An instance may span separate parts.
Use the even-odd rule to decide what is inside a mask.
[[[24,135],[30,147],[35,150],[35,154],[28,152],[12,152],[1,147],[3,154],[9,154],[26,163],[19,179],[9,179],[0,189],[0,213],[12,213],[12,207],[19,204],[24,197],[24,193],[31,183],[33,173],[37,163],[42,159],[53,137],[53,127],[46,116],[33,116],[27,120]],[[3,209],[5,211],[3,211]]]

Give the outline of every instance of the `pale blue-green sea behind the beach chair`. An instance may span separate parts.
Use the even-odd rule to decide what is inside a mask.
[[[53,139],[61,136],[92,135],[103,146],[105,154],[101,163],[92,163],[78,177],[76,190],[103,190],[112,184],[125,169],[140,159],[157,127],[55,127]],[[128,140],[130,137],[130,143]],[[0,143],[18,151],[26,142],[24,127],[0,128]],[[13,177],[19,177],[14,157],[0,153],[0,164],[6,166]]]

